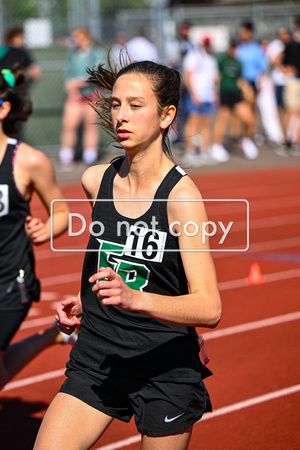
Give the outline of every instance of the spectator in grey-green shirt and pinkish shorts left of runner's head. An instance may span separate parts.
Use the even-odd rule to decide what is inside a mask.
[[[95,127],[97,115],[89,105],[89,101],[95,99],[95,94],[86,82],[86,68],[101,64],[105,60],[104,51],[95,45],[87,29],[75,29],[72,38],[75,48],[67,61],[65,76],[67,98],[59,152],[60,165],[64,170],[74,167],[77,133],[81,123],[83,123],[82,159],[88,165],[94,164],[98,159],[99,133]]]

